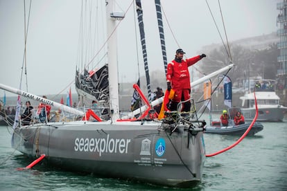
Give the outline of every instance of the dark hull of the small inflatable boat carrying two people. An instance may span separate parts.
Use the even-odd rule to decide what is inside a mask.
[[[222,135],[234,135],[234,136],[242,136],[245,131],[250,126],[250,122],[247,122],[242,125],[234,125],[229,126],[227,128],[223,127],[206,127],[205,133],[206,134],[222,134]],[[263,130],[263,125],[261,122],[255,122],[253,127],[248,132],[247,136],[253,136],[254,134],[258,133],[259,131]]]

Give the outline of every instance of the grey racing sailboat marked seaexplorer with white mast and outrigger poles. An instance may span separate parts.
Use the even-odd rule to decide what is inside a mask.
[[[112,5],[112,1],[106,1],[110,118],[90,122],[85,111],[0,84],[1,89],[73,113],[74,119],[82,119],[70,122],[46,120],[24,127],[20,124],[13,132],[12,147],[33,159],[45,155],[43,160],[48,165],[66,170],[175,187],[198,185],[205,162],[204,121],[186,120],[177,112],[166,113],[164,120],[123,120],[150,109],[148,105],[119,119],[114,30],[116,20],[123,19],[123,15],[114,12]],[[232,66],[206,75],[191,85],[194,87]],[[150,106],[162,100],[157,99]]]

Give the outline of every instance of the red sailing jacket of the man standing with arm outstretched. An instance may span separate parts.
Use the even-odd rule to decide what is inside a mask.
[[[200,59],[200,55],[182,60],[181,63],[175,60],[168,63],[166,81],[171,82],[172,89],[191,89],[189,80],[189,66],[195,64]]]

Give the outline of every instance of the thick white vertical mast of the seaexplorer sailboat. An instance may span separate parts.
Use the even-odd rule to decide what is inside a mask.
[[[110,111],[112,121],[119,118],[119,74],[117,62],[116,20],[123,19],[123,12],[114,11],[114,1],[106,0],[107,62],[109,72]]]

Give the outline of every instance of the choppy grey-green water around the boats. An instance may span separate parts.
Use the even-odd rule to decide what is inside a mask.
[[[203,181],[192,190],[287,190],[287,121],[263,122],[263,125],[263,131],[256,136],[207,158]],[[232,145],[237,139],[237,136],[205,134],[207,154]],[[8,128],[0,127],[0,190],[181,190],[64,172],[42,165],[33,170],[16,170],[29,163],[10,147]]]

